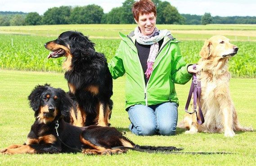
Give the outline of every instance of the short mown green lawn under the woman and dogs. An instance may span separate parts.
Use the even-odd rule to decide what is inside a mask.
[[[0,148],[10,144],[22,144],[27,137],[34,113],[28,106],[27,96],[38,84],[51,83],[67,91],[63,73],[22,72],[0,70]],[[129,119],[124,110],[125,77],[114,80],[114,107],[110,123],[119,130],[126,130],[126,136],[139,145],[162,145],[183,147],[187,152],[225,151],[229,155],[175,155],[149,154],[129,151],[112,156],[85,156],[78,154],[19,154],[0,155],[0,165],[254,165],[256,163],[255,132],[236,132],[234,138],[225,138],[219,133],[198,133],[185,135],[177,129],[175,136],[135,136],[128,131]],[[190,83],[176,85],[180,99],[179,119],[184,115],[184,105]],[[256,79],[233,78],[230,93],[238,119],[243,126],[256,128]]]

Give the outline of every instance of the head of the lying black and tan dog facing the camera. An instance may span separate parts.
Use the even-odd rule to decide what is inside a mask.
[[[31,108],[39,123],[50,123],[69,115],[72,99],[62,89],[48,84],[38,85],[28,96]]]

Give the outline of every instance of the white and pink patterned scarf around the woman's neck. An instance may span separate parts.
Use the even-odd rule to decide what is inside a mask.
[[[170,33],[169,30],[160,30],[159,31],[155,27],[152,34],[150,34],[148,36],[144,36],[143,34],[141,34],[140,28],[138,26],[138,27],[135,28],[134,34],[135,34],[136,41],[139,44],[151,45],[149,55],[148,55],[148,60],[147,60],[148,68],[147,68],[147,71],[144,73],[147,76],[147,78],[149,78],[152,71],[153,71],[153,64],[156,60],[157,52],[159,50],[158,42],[160,40],[162,40],[162,38],[164,38],[165,36],[168,36],[171,33]]]

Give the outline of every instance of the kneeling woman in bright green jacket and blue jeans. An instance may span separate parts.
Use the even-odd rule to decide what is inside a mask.
[[[174,135],[179,101],[174,84],[192,77],[192,66],[180,55],[179,42],[168,30],[156,28],[156,7],[151,0],[133,4],[138,27],[122,38],[108,64],[113,79],[126,73],[126,111],[136,135]],[[190,72],[190,73],[189,73]]]

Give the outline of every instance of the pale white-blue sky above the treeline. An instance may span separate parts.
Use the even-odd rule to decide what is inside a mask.
[[[125,0],[0,0],[0,11],[37,12],[43,15],[49,8],[97,4],[108,13]],[[175,6],[181,14],[211,16],[256,16],[256,0],[162,0]]]

